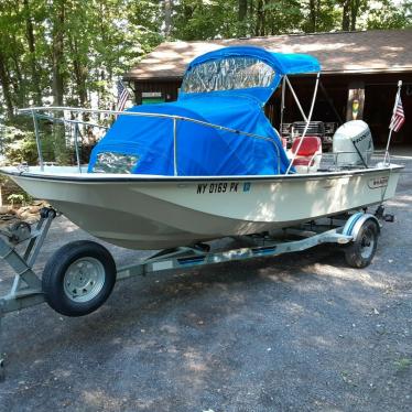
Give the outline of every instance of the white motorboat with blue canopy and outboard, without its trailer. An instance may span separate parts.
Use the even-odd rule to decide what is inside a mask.
[[[113,112],[118,118],[88,165],[78,159],[74,166],[45,165],[37,135],[40,165],[1,173],[93,236],[130,249],[194,246],[380,205],[394,195],[402,166],[371,164],[366,123],[356,120],[336,132],[334,164],[322,169],[319,148],[301,155],[307,127],[286,153],[264,116],[282,84],[308,124],[319,72],[318,61],[304,54],[252,46],[206,53],[188,65],[176,102]],[[307,115],[290,82],[296,74],[315,75]],[[94,111],[22,111],[36,120],[51,110]]]

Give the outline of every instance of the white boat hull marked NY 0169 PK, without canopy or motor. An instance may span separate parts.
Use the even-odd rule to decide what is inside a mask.
[[[235,177],[78,174],[67,167],[2,172],[102,240],[161,249],[380,204],[394,195],[401,169]]]

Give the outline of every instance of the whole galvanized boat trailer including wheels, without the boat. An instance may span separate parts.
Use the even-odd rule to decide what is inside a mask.
[[[56,216],[53,208],[43,208],[36,224],[19,221],[0,230],[0,260],[15,272],[9,292],[0,295],[0,380],[4,379],[1,319],[7,313],[47,302],[61,314],[83,316],[97,310],[119,280],[165,270],[274,257],[321,243],[345,246],[348,264],[364,268],[370,263],[377,248],[381,226],[378,218],[393,219],[391,215],[383,215],[383,207],[379,206],[375,215],[366,210],[351,212],[284,228],[275,237],[269,232],[242,236],[247,247],[239,249],[210,251],[206,243],[181,247],[162,250],[144,261],[118,269],[110,252],[101,245],[89,240],[74,241],[54,253],[40,277],[33,267]],[[24,242],[24,252],[19,252],[17,246]]]

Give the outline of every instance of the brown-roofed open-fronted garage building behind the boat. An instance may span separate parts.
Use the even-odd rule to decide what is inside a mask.
[[[123,79],[134,93],[138,105],[176,100],[187,63],[195,56],[229,45],[256,45],[280,53],[308,53],[323,66],[322,86],[313,120],[335,123],[364,119],[370,124],[377,145],[388,138],[398,80],[403,82],[402,102],[406,118],[412,118],[411,30],[381,30],[279,35],[209,42],[165,42],[149,53]],[[304,107],[310,106],[313,79],[295,76],[293,84]],[[278,90],[278,94],[281,91]],[[272,123],[280,124],[279,96],[265,111]],[[284,121],[302,120],[293,97],[286,96]],[[354,105],[354,100],[356,105]],[[412,145],[412,122],[406,122],[393,143]]]

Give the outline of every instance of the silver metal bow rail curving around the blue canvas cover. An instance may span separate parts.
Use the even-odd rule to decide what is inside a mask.
[[[36,122],[36,118],[41,118],[45,115],[37,115],[36,111],[69,111],[69,112],[79,112],[79,113],[101,113],[101,115],[115,115],[115,116],[134,116],[134,117],[147,117],[147,118],[160,118],[160,119],[172,119],[173,120],[173,169],[174,169],[174,175],[177,176],[177,121],[189,121],[196,124],[209,127],[213,129],[217,130],[223,130],[227,131],[229,133],[235,133],[235,134],[241,134],[246,135],[249,138],[254,138],[263,141],[271,142],[273,147],[277,150],[278,159],[280,159],[280,150],[279,147],[275,144],[273,139],[267,138],[264,135],[256,134],[256,133],[249,133],[246,131],[241,130],[236,130],[231,128],[227,128],[225,126],[220,124],[215,124],[210,123],[207,121],[203,120],[197,120],[197,119],[192,119],[185,116],[176,116],[176,115],[164,115],[164,113],[148,113],[148,112],[135,112],[135,111],[119,111],[119,110],[101,110],[101,109],[82,109],[82,108],[76,108],[76,107],[63,107],[63,106],[51,106],[51,107],[28,107],[23,109],[19,109],[18,113],[30,113],[33,117],[33,122],[34,122],[34,132],[35,132],[35,138],[36,138],[36,143],[37,143],[37,153],[39,153],[39,163],[40,163],[40,169],[41,171],[44,170],[44,162],[43,162],[43,156],[42,156],[42,150],[41,150],[41,140],[40,140],[40,133],[39,133],[39,127]],[[68,123],[85,123],[80,120],[73,120],[73,119],[61,119],[61,118],[55,118],[55,117],[47,117],[50,120],[57,119],[61,122],[68,122]],[[100,127],[98,124],[90,124],[95,127]],[[106,128],[106,127],[104,127]],[[275,130],[275,129],[274,129]],[[278,131],[275,130],[278,138],[280,139],[280,135]],[[75,139],[75,150],[76,150],[76,158],[77,158],[77,166],[80,170],[80,164],[79,164],[79,156],[78,156],[78,147],[77,147],[77,139]],[[280,174],[280,162],[278,162],[278,173]]]

